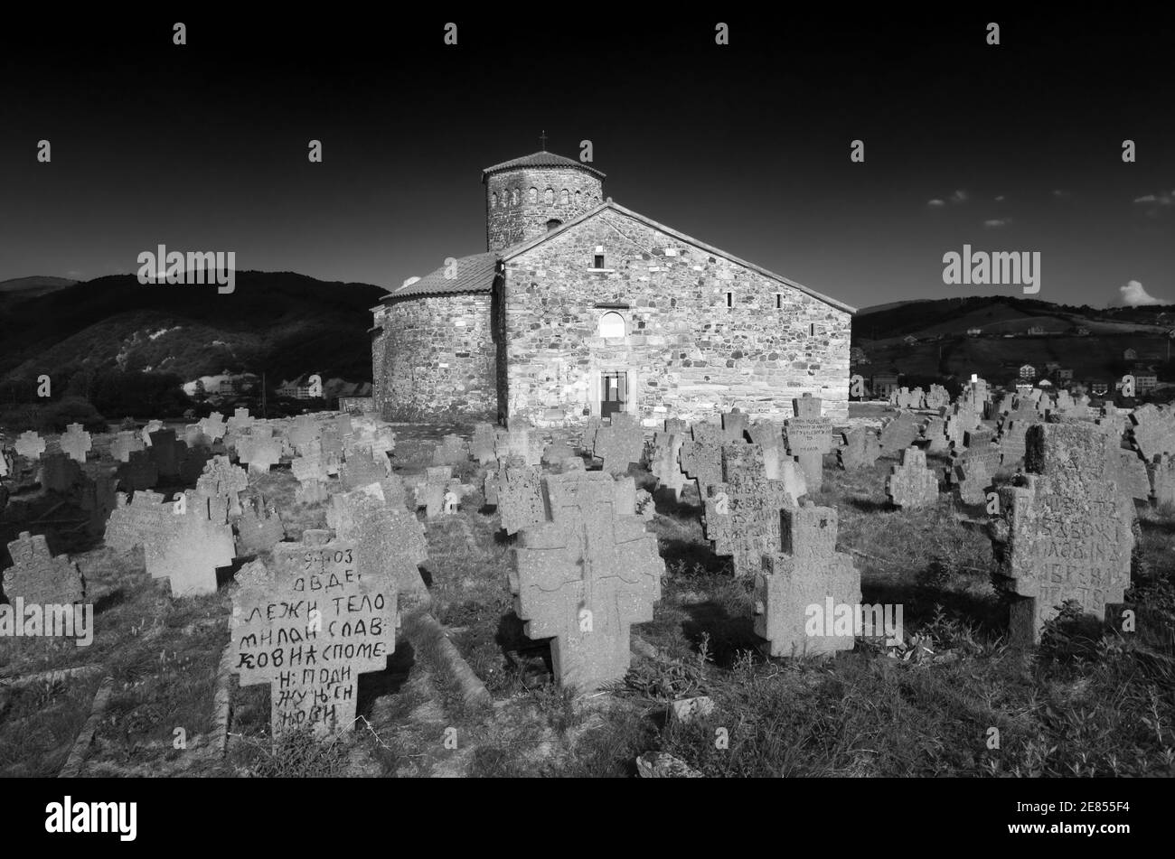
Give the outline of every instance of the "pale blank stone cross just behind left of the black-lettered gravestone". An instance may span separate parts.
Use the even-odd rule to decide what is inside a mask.
[[[172,596],[216,593],[216,570],[233,564],[233,528],[208,519],[202,496],[189,489],[183,512],[175,502],[161,505],[167,514],[154,520],[156,530],[143,539],[147,573],[167,579]]]

